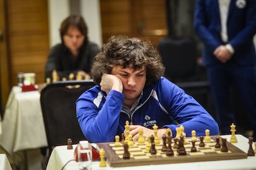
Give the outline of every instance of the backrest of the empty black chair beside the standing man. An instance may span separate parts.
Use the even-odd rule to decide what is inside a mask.
[[[172,81],[188,78],[197,68],[197,46],[194,39],[186,36],[168,36],[160,40],[158,51],[166,67],[165,76]]]

